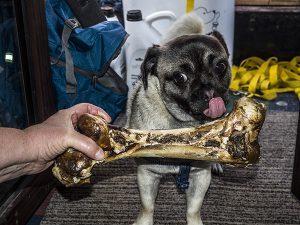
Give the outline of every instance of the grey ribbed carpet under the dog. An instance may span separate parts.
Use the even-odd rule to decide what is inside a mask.
[[[297,121],[295,112],[267,115],[260,163],[225,167],[213,177],[201,211],[204,224],[300,224],[300,201],[290,192]],[[140,207],[135,169],[133,160],[123,160],[99,167],[92,188],[59,188],[42,224],[132,224]],[[185,224],[185,196],[173,177],[161,184],[156,206],[156,225]]]

